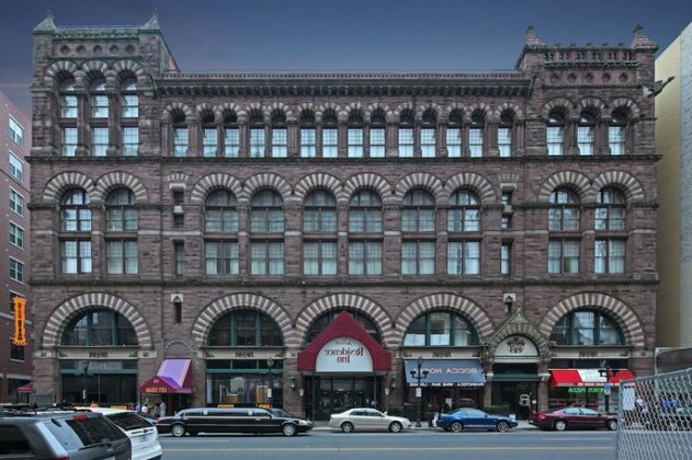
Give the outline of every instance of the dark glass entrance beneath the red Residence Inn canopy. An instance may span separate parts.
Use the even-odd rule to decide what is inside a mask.
[[[313,419],[327,421],[330,414],[337,412],[376,405],[375,379],[377,378],[306,378],[306,415]]]

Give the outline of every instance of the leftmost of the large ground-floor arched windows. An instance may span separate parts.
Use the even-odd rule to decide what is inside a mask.
[[[65,327],[61,345],[125,346],[137,345],[137,334],[121,313],[111,310],[90,310],[70,321]]]

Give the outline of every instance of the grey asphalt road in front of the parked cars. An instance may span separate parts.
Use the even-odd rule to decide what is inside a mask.
[[[531,459],[612,460],[611,432],[552,433],[537,429],[510,433],[332,433],[313,430],[286,438],[281,435],[198,435],[159,438],[166,460],[368,460],[368,459]]]

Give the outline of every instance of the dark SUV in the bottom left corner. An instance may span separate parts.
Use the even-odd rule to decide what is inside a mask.
[[[0,458],[129,460],[129,438],[101,414],[0,411]]]

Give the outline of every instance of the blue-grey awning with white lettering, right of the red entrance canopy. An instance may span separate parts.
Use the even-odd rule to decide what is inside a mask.
[[[418,361],[405,361],[406,382],[418,386],[418,379],[411,375],[418,372]],[[421,379],[421,387],[483,387],[486,376],[478,359],[423,359],[421,373],[428,371],[428,377]]]

